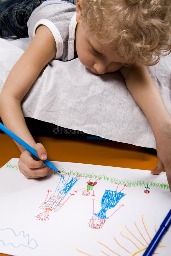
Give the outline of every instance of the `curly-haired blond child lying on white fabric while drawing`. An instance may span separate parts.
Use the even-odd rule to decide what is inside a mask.
[[[154,133],[158,164],[152,174],[165,168],[171,189],[171,117],[145,68],[156,64],[162,53],[171,52],[170,0],[77,0],[76,7],[60,0],[31,1],[37,4],[34,6],[28,0],[18,2],[1,13],[4,25],[0,28],[22,37],[28,26],[32,40],[11,69],[0,94],[3,123],[45,160],[46,150],[34,141],[21,111],[21,100],[42,69],[52,59],[66,61],[76,55],[92,73],[119,70]],[[25,10],[17,12],[23,6]],[[41,168],[41,160],[35,161],[18,146],[22,152],[18,165],[27,178],[50,173],[47,166]]]

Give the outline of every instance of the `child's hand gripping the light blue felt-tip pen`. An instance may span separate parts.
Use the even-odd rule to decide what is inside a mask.
[[[37,151],[40,159],[46,160],[47,153],[42,144],[35,144],[34,149]],[[20,160],[18,162],[19,170],[26,178],[36,179],[50,174],[51,170],[48,166],[41,168],[43,161],[34,159],[35,157],[33,158],[27,150],[25,150],[20,156]]]

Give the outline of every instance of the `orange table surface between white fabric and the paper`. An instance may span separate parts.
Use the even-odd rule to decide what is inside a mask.
[[[157,156],[145,152],[139,146],[114,141],[88,141],[86,139],[66,139],[35,137],[36,142],[46,148],[48,160],[117,166],[141,170],[156,167]],[[20,158],[20,151],[6,134],[0,134],[0,167],[11,158]],[[0,253],[0,255],[6,255]]]

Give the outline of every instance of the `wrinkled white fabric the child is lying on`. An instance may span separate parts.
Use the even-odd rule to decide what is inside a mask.
[[[0,90],[28,39],[0,38]],[[171,114],[171,55],[148,67]],[[151,95],[151,100],[153,96]],[[127,90],[119,72],[90,73],[79,61],[51,61],[22,102],[25,117],[84,131],[113,141],[156,148],[144,113]]]

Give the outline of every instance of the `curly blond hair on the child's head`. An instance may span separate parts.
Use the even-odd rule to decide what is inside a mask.
[[[124,63],[155,65],[171,52],[171,0],[82,0],[82,20]]]

